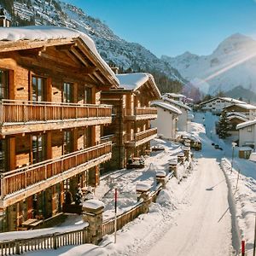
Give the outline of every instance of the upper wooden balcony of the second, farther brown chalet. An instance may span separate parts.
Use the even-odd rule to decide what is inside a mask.
[[[157,118],[156,108],[137,107],[134,109],[124,109],[124,110],[125,110],[125,119],[131,120],[131,121]]]

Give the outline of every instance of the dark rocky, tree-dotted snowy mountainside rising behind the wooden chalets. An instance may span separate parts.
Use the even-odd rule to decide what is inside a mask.
[[[164,76],[164,82],[159,84],[163,91],[172,90],[174,87],[179,87],[179,90],[182,88],[179,83],[183,83],[184,79],[171,65],[166,64],[142,45],[119,38],[101,20],[86,15],[82,9],[74,5],[59,0],[0,0],[0,4],[8,9],[15,26],[72,27],[90,35],[102,58],[109,64],[120,67],[121,71],[154,73],[156,79],[159,78],[159,83]],[[169,85],[173,88],[168,88]]]

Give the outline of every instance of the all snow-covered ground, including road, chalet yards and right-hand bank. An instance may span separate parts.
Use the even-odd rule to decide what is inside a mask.
[[[147,214],[140,215],[118,231],[116,244],[111,235],[105,236],[100,246],[85,244],[28,254],[228,256],[239,252],[239,239],[244,239],[247,242],[247,255],[252,255],[256,212],[255,163],[235,157],[235,169],[237,166],[243,167],[243,174],[237,183],[236,170],[230,174],[230,142],[219,140],[211,132],[214,131],[216,119],[218,117],[210,113],[195,114],[197,122],[191,123],[191,133],[201,138],[202,150],[195,152],[192,172],[187,173],[180,183],[172,178],[166,189],[160,192],[156,203],[151,204]],[[224,150],[214,149],[212,141]],[[168,161],[182,150],[180,145],[169,141],[155,139],[153,145],[157,144],[165,150],[152,153],[145,160],[145,168],[119,170],[102,177],[95,196],[105,204],[104,219],[113,216],[114,188],[119,191],[118,212],[124,212],[137,202],[136,185],[143,182],[154,189],[155,172],[168,172]],[[223,170],[219,166],[221,160]],[[183,169],[179,167],[179,171]],[[230,189],[226,180],[230,183]],[[230,201],[233,195],[236,211]],[[71,215],[62,226],[73,224],[82,224],[81,217]]]

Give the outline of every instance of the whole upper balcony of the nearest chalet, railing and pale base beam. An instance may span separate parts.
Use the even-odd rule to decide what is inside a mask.
[[[0,135],[110,124],[111,114],[108,105],[2,100]]]

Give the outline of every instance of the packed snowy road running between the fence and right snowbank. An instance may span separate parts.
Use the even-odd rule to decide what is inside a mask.
[[[218,153],[206,144],[198,160],[194,184],[189,186],[189,206],[175,225],[147,253],[155,255],[230,255],[231,220],[228,189],[218,166]]]

